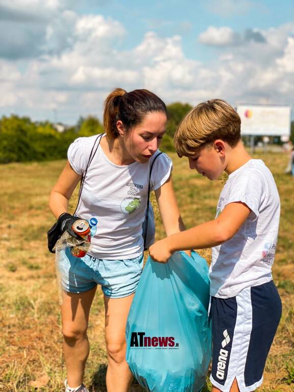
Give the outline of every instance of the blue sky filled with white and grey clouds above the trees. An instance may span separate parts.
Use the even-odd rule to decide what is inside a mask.
[[[0,116],[102,119],[116,87],[294,108],[293,0],[0,0],[0,36]]]

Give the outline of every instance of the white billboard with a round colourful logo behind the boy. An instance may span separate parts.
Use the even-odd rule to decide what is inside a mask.
[[[241,135],[287,136],[291,128],[290,106],[238,105]]]

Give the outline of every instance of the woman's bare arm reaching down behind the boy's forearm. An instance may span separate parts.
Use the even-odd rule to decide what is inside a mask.
[[[185,230],[171,176],[160,188],[155,190],[155,196],[166,235],[169,236]]]

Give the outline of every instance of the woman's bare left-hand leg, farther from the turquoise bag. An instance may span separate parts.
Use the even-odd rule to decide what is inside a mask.
[[[89,355],[87,328],[89,312],[96,286],[82,293],[63,292],[61,306],[63,351],[67,369],[67,384],[71,388],[83,382]]]

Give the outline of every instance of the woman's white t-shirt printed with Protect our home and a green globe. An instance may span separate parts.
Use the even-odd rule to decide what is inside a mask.
[[[81,137],[70,144],[67,157],[77,174],[85,173],[96,138],[97,135]],[[135,258],[143,252],[142,223],[150,166],[158,152],[147,163],[120,166],[112,163],[99,145],[87,169],[75,213],[84,219],[95,217],[98,221],[96,234],[91,238],[90,255],[115,260]],[[170,158],[161,154],[153,165],[151,190],[158,189],[168,180],[171,168]]]

